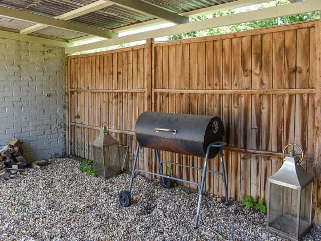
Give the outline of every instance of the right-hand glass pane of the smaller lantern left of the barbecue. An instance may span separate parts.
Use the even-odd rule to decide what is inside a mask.
[[[104,147],[105,177],[116,175],[121,171],[118,144]]]

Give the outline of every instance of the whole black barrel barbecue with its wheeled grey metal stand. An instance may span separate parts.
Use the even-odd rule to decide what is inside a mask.
[[[136,149],[129,190],[122,191],[119,194],[119,202],[122,206],[127,207],[130,205],[130,193],[132,190],[133,179],[136,172],[160,176],[161,185],[165,188],[169,188],[171,186],[171,179],[187,182],[198,186],[199,201],[194,225],[195,227],[197,227],[198,223],[202,191],[207,172],[216,173],[222,176],[222,181],[225,188],[226,203],[229,203],[222,150],[222,147],[226,145],[226,143],[222,142],[222,138],[224,136],[224,125],[219,117],[192,114],[144,112],[137,119],[135,125],[135,134],[138,145]],[[159,173],[136,169],[140,146],[155,150],[159,165]],[[204,167],[199,168],[168,161],[161,161],[158,150],[204,157]],[[222,172],[207,170],[208,159],[215,157],[218,153],[220,153]],[[180,178],[164,175],[163,163],[202,170],[203,175],[201,185],[189,180],[183,180]]]

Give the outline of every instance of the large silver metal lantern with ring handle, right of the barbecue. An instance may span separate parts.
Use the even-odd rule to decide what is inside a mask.
[[[289,146],[297,146],[301,160],[294,150],[284,158]],[[290,240],[300,240],[311,228],[313,176],[301,163],[303,150],[297,144],[289,144],[283,150],[282,167],[269,178],[267,230]]]

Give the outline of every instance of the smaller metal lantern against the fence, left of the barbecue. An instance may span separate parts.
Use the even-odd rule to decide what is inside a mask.
[[[121,173],[119,143],[108,132],[108,124],[101,125],[99,136],[92,143],[95,174],[108,178]]]

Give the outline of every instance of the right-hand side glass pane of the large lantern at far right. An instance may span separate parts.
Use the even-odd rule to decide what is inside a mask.
[[[311,218],[311,200],[312,199],[312,182],[308,184],[301,192],[300,208],[300,235],[303,235],[310,226]]]

